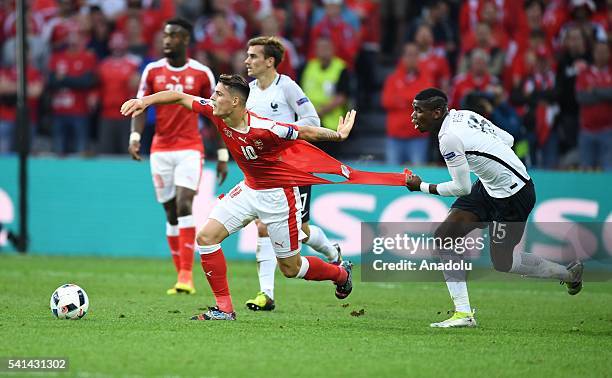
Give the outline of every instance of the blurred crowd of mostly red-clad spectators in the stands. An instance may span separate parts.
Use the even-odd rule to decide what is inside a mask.
[[[119,107],[174,17],[193,23],[189,55],[216,76],[246,76],[246,41],[279,36],[279,71],[323,126],[358,110],[338,158],[440,164],[437,136],[411,122],[416,93],[437,86],[512,134],[528,167],[612,170],[612,0],[29,0],[32,153],[126,155]],[[15,21],[0,0],[0,154],[16,149]]]

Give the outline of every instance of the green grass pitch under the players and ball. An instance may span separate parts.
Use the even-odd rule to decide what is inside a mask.
[[[277,309],[251,312],[254,262],[229,264],[236,322],[190,321],[212,304],[194,272],[196,295],[167,296],[170,261],[0,255],[0,357],[68,357],[68,375],[88,377],[610,374],[610,282],[576,297],[555,281],[473,282],[480,327],[444,330],[429,328],[451,307],[443,283],[361,283],[358,268],[345,301],[330,283],[277,275]],[[48,307],[68,282],[89,294],[79,321]]]

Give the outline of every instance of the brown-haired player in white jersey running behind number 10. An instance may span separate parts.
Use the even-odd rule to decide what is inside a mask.
[[[248,43],[247,58],[244,61],[247,73],[255,78],[250,84],[247,110],[274,121],[293,123],[299,126],[320,126],[321,121],[314,106],[304,91],[288,76],[279,74],[276,68],[281,63],[284,47],[276,37],[257,37]],[[315,251],[324,254],[330,262],[340,260],[338,245],[332,244],[323,230],[310,226],[310,186],[302,186],[302,231],[306,234],[303,242]],[[274,302],[274,272],[276,255],[266,225],[257,223],[257,250],[260,291],[246,305],[254,311],[271,311]]]

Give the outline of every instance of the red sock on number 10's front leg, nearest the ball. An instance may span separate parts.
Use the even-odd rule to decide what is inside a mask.
[[[223,250],[203,253],[200,255],[200,259],[208,284],[215,295],[217,307],[223,312],[233,312],[234,306],[232,306],[232,297],[227,284],[227,264],[225,263]]]

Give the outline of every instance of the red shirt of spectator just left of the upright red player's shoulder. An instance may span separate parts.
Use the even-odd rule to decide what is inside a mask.
[[[119,110],[121,104],[133,96],[133,89],[128,83],[136,73],[138,73],[138,59],[132,56],[110,56],[98,66],[102,117],[124,118]]]

